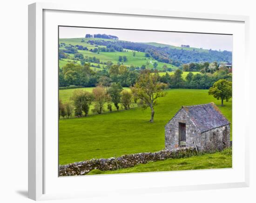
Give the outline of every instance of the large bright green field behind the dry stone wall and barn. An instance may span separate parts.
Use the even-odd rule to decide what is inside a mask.
[[[168,94],[160,98],[155,107],[154,123],[148,122],[149,109],[141,108],[91,115],[87,118],[61,119],[59,121],[60,164],[159,151],[164,148],[164,126],[182,105],[214,101],[232,122],[232,100],[224,102],[224,107],[220,107],[221,102],[209,96],[208,90],[169,89],[166,91]],[[60,90],[60,96],[65,100],[69,98],[71,92],[72,89]],[[152,163],[152,167],[153,165]]]

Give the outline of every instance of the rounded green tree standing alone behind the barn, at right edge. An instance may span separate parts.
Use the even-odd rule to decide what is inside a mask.
[[[229,101],[232,97],[232,82],[225,79],[218,80],[209,89],[208,94],[213,95],[217,100],[221,99],[223,107],[223,100]]]

